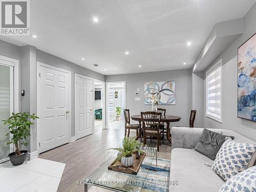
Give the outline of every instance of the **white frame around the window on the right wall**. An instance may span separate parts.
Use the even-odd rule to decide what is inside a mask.
[[[216,70],[217,68],[220,67],[220,73],[221,73],[221,98],[220,98],[220,118],[214,116],[214,115],[210,115],[208,114],[208,74],[211,73],[212,71]],[[222,74],[222,58],[220,60],[218,60],[214,66],[212,66],[210,69],[208,69],[205,73],[205,115],[208,118],[214,119],[216,121],[219,121],[222,123],[222,94],[223,94],[223,74]]]

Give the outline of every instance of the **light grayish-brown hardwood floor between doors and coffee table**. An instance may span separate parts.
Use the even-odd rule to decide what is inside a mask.
[[[135,136],[131,132],[130,137]],[[99,130],[97,133],[76,140],[72,143],[54,148],[51,151],[40,154],[39,158],[66,163],[58,191],[83,191],[82,185],[76,181],[82,181],[90,175],[103,162],[111,147],[120,147],[124,137],[124,129]],[[156,146],[156,140],[147,140],[147,144]],[[170,159],[171,147],[168,141],[160,146],[159,158]]]

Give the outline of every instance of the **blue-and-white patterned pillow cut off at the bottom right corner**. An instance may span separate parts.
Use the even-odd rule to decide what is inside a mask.
[[[219,192],[255,192],[256,191],[256,166],[250,167],[227,180]]]

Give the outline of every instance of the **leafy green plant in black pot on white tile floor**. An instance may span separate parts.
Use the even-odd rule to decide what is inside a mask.
[[[21,145],[28,146],[27,138],[30,136],[30,126],[34,123],[30,120],[38,119],[39,117],[35,114],[30,115],[27,112],[24,113],[12,113],[12,116],[7,120],[3,120],[4,124],[8,125],[10,136],[10,141],[7,144],[13,143],[15,150],[10,153],[8,157],[13,165],[23,164],[27,158],[28,151],[20,150]]]

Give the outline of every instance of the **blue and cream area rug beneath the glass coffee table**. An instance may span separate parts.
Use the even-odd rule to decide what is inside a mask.
[[[156,159],[145,157],[137,176],[122,174],[111,170],[106,170],[98,181],[108,182],[108,187],[118,188],[121,191],[169,191],[170,160],[158,159],[156,171]],[[148,168],[152,170],[148,170]],[[145,180],[146,177],[146,180]],[[92,186],[92,191],[103,191],[102,188]]]

